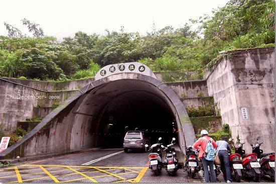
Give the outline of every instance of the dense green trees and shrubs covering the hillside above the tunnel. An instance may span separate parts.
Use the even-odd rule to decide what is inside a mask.
[[[77,32],[62,42],[45,37],[38,24],[26,19],[22,22],[34,38],[4,23],[9,34],[0,36],[0,76],[80,79],[93,77],[105,65],[133,61],[153,71],[202,73],[221,50],[274,46],[274,9],[272,0],[230,0],[212,16],[177,29],[166,26],[142,36],[121,27],[104,36]],[[199,25],[197,30],[191,29],[193,24]]]

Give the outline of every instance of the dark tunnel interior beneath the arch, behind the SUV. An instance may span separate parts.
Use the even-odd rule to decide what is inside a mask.
[[[168,97],[157,86],[137,79],[103,83],[87,93],[85,105],[77,113],[89,115],[89,134],[97,136],[97,146],[122,148],[129,130],[145,131],[154,144],[172,141],[178,130],[175,112]],[[177,137],[176,137],[177,138]]]

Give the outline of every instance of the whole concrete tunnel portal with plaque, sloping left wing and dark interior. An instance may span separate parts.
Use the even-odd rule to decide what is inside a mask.
[[[142,63],[112,64],[0,153],[0,159],[122,148],[126,131],[135,129],[148,130],[152,143],[162,137],[167,144],[173,125],[185,153],[185,147],[194,143],[195,132],[179,97]]]

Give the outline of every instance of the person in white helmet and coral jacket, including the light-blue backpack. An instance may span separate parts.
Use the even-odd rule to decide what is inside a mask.
[[[209,182],[208,165],[210,168],[211,182],[217,182],[215,170],[212,169],[214,168],[214,160],[215,160],[214,148],[217,148],[217,144],[211,137],[208,136],[207,130],[202,130],[200,134],[201,134],[201,138],[199,138],[193,144],[193,147],[196,149],[199,149],[198,157],[201,159],[203,169],[205,171],[204,172],[205,182]]]

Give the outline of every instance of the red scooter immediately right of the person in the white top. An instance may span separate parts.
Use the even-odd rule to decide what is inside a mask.
[[[231,140],[231,139],[230,139]],[[229,166],[231,178],[235,182],[240,182],[242,177],[243,166],[241,164],[241,155],[245,154],[244,149],[242,149],[242,145],[244,143],[236,143],[235,144],[235,153],[229,155]]]

